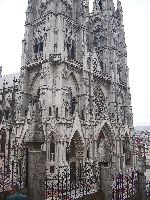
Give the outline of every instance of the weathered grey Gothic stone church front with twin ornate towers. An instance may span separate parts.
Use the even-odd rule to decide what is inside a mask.
[[[119,0],[117,8],[95,0],[91,14],[88,0],[29,0],[12,143],[24,142],[38,98],[49,173],[85,162],[131,165],[128,78]]]

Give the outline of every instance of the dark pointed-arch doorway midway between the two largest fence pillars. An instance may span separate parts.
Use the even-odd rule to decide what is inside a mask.
[[[81,174],[84,159],[84,144],[79,132],[75,132],[70,142],[70,179],[75,180]]]

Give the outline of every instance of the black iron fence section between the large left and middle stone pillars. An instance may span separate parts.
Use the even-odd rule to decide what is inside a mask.
[[[66,168],[45,179],[45,199],[78,199],[100,190],[100,168],[80,166],[74,172]]]

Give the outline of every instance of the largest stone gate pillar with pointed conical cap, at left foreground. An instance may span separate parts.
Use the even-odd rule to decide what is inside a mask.
[[[45,142],[39,102],[33,104],[32,120],[26,132],[25,143],[28,148],[28,196],[29,200],[45,200],[46,152],[41,145]]]

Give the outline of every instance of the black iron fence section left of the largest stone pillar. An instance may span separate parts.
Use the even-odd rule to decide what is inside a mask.
[[[0,154],[0,192],[11,191],[15,185],[19,188],[27,186],[27,157],[28,151],[24,149],[20,156],[12,156],[8,163],[5,152]]]

